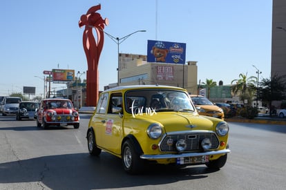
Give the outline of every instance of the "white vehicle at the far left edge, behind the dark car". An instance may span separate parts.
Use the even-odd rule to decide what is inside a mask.
[[[19,109],[21,97],[4,97],[2,115],[16,115]]]

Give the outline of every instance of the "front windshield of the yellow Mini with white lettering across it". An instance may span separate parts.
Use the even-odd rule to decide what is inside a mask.
[[[125,95],[125,108],[128,113],[138,111],[195,111],[189,95],[184,91],[164,89],[142,89],[128,91]]]

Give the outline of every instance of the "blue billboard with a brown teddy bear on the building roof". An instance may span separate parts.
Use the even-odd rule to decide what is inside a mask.
[[[147,61],[169,64],[186,63],[186,44],[148,40]]]

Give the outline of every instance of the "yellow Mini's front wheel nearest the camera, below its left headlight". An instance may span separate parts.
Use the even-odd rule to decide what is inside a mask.
[[[144,168],[144,160],[136,153],[131,140],[126,140],[122,146],[122,163],[127,173],[140,173]]]

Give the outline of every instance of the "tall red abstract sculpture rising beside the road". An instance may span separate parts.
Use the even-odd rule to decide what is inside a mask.
[[[108,19],[102,19],[99,13],[96,12],[100,8],[100,4],[91,7],[86,12],[86,15],[82,15],[79,20],[79,28],[85,26],[82,42],[88,62],[88,70],[86,72],[86,106],[96,106],[99,96],[98,63],[104,44],[104,25],[108,25]],[[95,28],[97,33],[97,41],[95,41],[93,36],[93,28]]]

